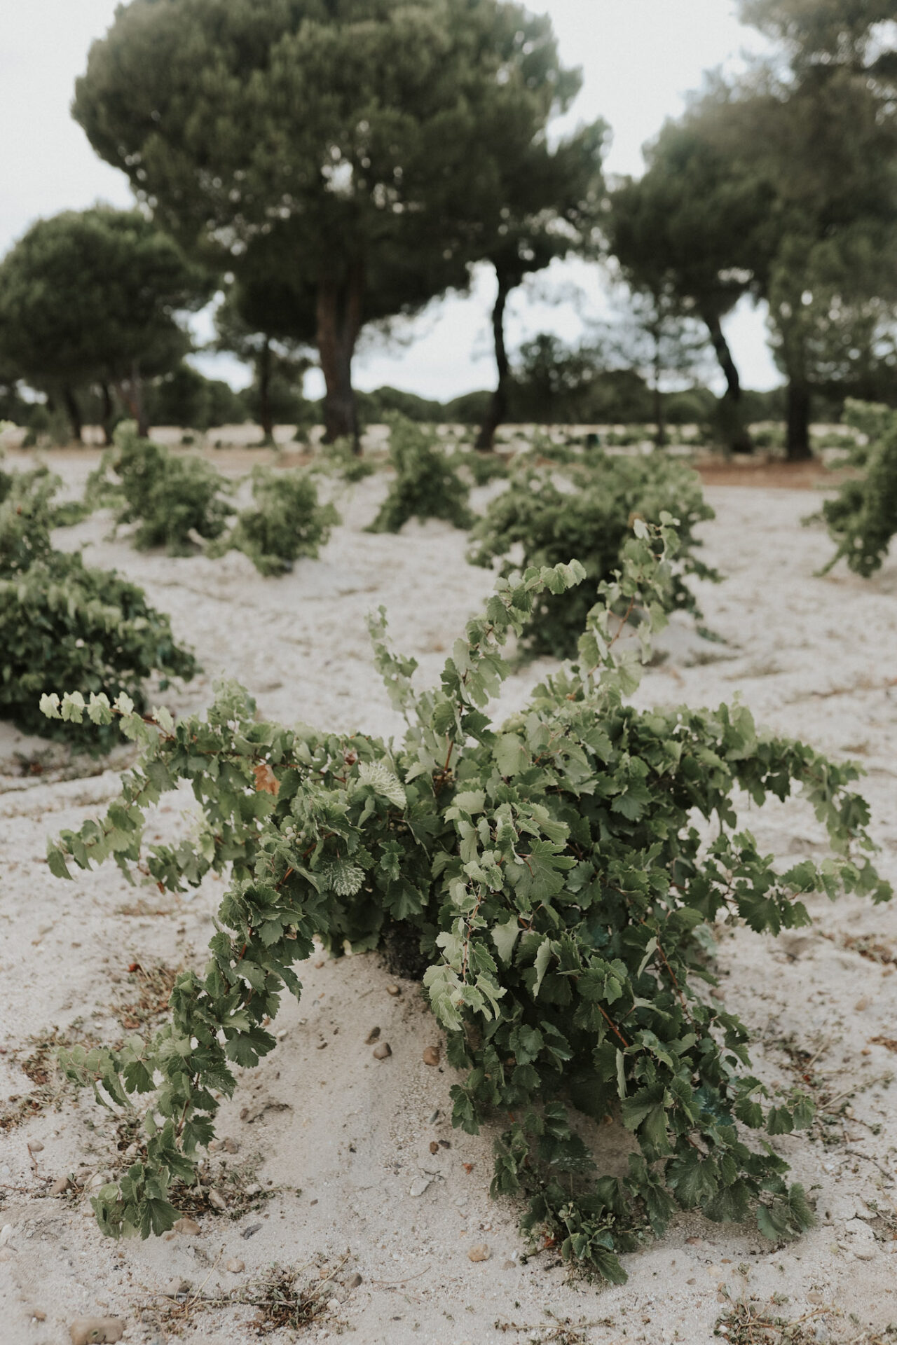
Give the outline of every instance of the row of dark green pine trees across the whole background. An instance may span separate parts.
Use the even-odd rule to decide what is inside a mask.
[[[754,408],[724,331],[748,299],[769,315],[788,453],[807,456],[812,414],[897,402],[893,0],[741,12],[773,55],[709,77],[644,174],[608,180],[602,121],[557,134],[580,74],[547,17],[516,4],[121,5],[73,112],[137,206],[38,221],[3,260],[0,401],[39,417],[16,401],[26,385],[75,437],[87,414],[109,433],[125,413],[202,426],[242,406],[265,438],[313,412],[328,440],[358,441],[378,408],[421,401],[356,393],[362,332],[490,266],[495,386],[438,410],[476,422],[477,447],[506,420],[650,420],[663,443],[687,404],[750,449]],[[576,350],[550,336],[508,350],[514,292],[572,254],[615,278],[624,316]],[[215,348],[250,366],[249,393],[184,363],[184,316],[212,295]],[[671,391],[706,383],[710,352],[722,398]],[[299,391],[313,362],[320,406]]]

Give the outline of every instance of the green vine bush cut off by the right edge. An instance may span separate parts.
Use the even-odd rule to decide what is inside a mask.
[[[854,574],[869,578],[881,569],[897,533],[897,412],[847,401],[845,420],[866,436],[849,456],[865,475],[842,482],[834,499],[823,502],[822,518],[838,550],[822,573],[843,555]]]

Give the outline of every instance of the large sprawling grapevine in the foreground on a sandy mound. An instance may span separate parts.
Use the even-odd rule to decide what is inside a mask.
[[[577,562],[499,578],[424,693],[414,660],[390,651],[381,609],[375,658],[409,724],[398,744],[260,721],[233,683],[204,718],[176,726],[128,703],[44,701],[52,716],[118,717],[143,745],[109,812],[50,845],[54,874],[114,857],[182,890],[231,863],[206,971],[178,978],[171,1022],[148,1041],[63,1056],[70,1077],[102,1085],[101,1100],[149,1103],[145,1149],[93,1201],[105,1232],[172,1225],[169,1184],[191,1180],[234,1067],[274,1049],[269,1018],[282,990],[300,994],[293,964],[313,939],[339,955],[344,940],[371,948],[397,925],[429,963],[424,987],[460,1072],[453,1123],[476,1131],[503,1118],[492,1192],[529,1194],[533,1235],[619,1280],[616,1254],[662,1233],[676,1206],[717,1220],[754,1208],[773,1239],[807,1227],[807,1200],[763,1132],[806,1126],[811,1108],[792,1096],[764,1104],[748,1033],[706,987],[706,925],[724,915],[777,933],[808,923],[804,893],[890,892],[863,855],[857,767],[758,733],[744,706],[625,703],[637,659],[615,647],[612,613],[641,611],[647,656],[675,551],[667,527],[637,534],[589,613],[578,664],[503,725],[484,713],[507,674],[502,646],[545,588],[582,578]],[[200,834],[143,855],[148,810],[182,779],[204,812]],[[835,858],[780,872],[737,830],[734,795],[763,803],[795,788]],[[629,1131],[624,1176],[596,1171],[580,1112]]]

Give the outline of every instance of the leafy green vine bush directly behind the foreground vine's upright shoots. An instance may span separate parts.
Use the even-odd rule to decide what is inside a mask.
[[[701,480],[679,463],[654,453],[650,457],[608,457],[592,452],[551,473],[523,468],[506,491],[491,503],[472,531],[468,560],[491,565],[500,558],[502,573],[510,560],[523,565],[557,565],[568,555],[582,561],[586,582],[562,596],[543,593],[533,604],[523,638],[534,654],[569,658],[594,601],[596,585],[620,564],[631,535],[632,519],[656,523],[663,511],[679,521],[680,549],[666,600],[671,608],[699,615],[685,578],[717,578],[694,554],[699,542],[694,527],[713,518],[705,503]]]

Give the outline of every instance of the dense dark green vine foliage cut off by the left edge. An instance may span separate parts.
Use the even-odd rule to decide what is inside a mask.
[[[159,672],[164,687],[168,678],[191,678],[196,663],[136,584],[52,550],[56,483],[40,473],[20,477],[0,503],[0,717],[27,733],[106,748],[117,740],[114,729],[75,718],[48,725],[42,694],[70,686],[82,699],[124,695],[143,712],[145,678]]]

